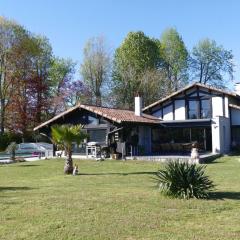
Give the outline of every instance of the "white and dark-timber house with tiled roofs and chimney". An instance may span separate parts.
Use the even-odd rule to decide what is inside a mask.
[[[79,104],[34,130],[49,135],[53,124],[83,124],[88,142],[124,155],[187,153],[193,142],[228,153],[240,144],[240,95],[194,83],[144,108],[135,97],[135,111]],[[74,150],[85,153],[86,144]]]

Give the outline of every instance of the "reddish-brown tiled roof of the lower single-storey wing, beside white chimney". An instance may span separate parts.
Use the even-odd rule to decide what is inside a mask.
[[[70,108],[67,111],[60,113],[59,115],[53,117],[52,119],[40,124],[39,126],[34,128],[34,131],[48,125],[49,123],[54,122],[55,120],[65,116],[66,114],[68,114],[74,110],[77,110],[77,109],[85,109],[87,111],[96,113],[99,116],[102,116],[106,119],[112,120],[117,123],[158,124],[161,121],[157,117],[154,117],[154,116],[151,116],[148,114],[144,114],[144,113],[142,114],[142,116],[136,116],[134,111],[130,111],[130,110],[79,104],[76,107]]]

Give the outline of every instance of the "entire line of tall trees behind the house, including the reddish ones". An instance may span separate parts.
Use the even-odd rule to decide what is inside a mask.
[[[137,93],[147,105],[192,81],[224,88],[233,68],[232,52],[215,41],[188,51],[169,28],[159,39],[129,32],[115,51],[104,37],[89,39],[76,80],[76,63],[55,56],[45,36],[0,17],[0,145],[9,134],[31,138],[34,126],[78,102],[133,109]]]

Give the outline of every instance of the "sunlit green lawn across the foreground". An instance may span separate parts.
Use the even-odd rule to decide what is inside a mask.
[[[167,198],[138,161],[63,160],[0,166],[0,239],[240,239],[240,162],[208,164],[217,184],[211,200]]]

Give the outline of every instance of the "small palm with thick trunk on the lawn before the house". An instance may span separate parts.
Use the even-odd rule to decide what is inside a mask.
[[[87,134],[83,131],[82,125],[54,125],[51,127],[51,132],[53,143],[62,148],[66,153],[64,173],[72,174],[72,143],[80,144],[87,138]]]

